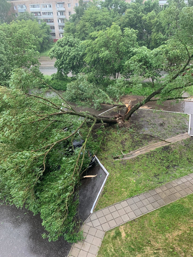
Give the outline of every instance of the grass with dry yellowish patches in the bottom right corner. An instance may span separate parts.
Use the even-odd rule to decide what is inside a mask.
[[[193,195],[106,232],[98,257],[192,257]]]

